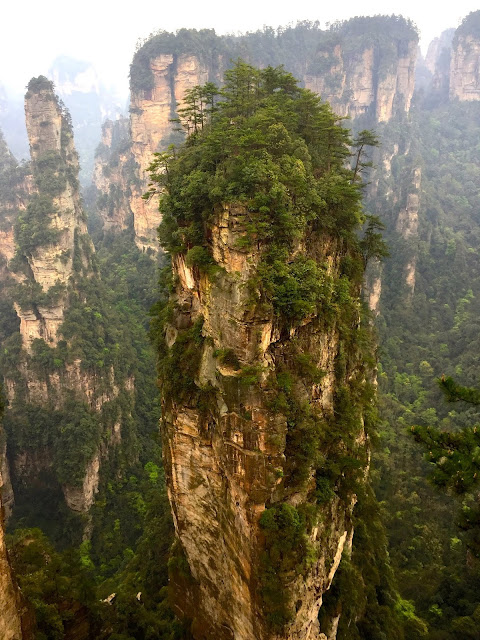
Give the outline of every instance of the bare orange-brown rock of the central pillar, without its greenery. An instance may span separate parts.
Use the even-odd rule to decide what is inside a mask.
[[[171,580],[176,612],[193,621],[197,640],[307,639],[319,636],[318,611],[344,548],[349,548],[355,495],[334,497],[322,505],[308,531],[311,565],[285,577],[284,591],[293,619],[283,631],[266,621],[262,601],[264,532],[259,520],[266,506],[288,495],[293,507],[306,504],[313,476],[301,488],[286,488],[291,451],[287,416],[272,409],[270,376],[292,366],[292,345],[324,372],[318,384],[299,384],[298,393],[317,417],[334,413],[340,351],[336,326],[310,317],[281,332],[271,312],[252,308],[247,283],[261,249],[238,247],[245,235],[247,212],[224,206],[211,228],[211,251],[222,272],[214,279],[174,261],[175,311],[166,341],[175,348],[179,336],[203,319],[201,357],[195,384],[202,401],[176,394],[164,405],[163,441],[168,489],[177,542]],[[316,238],[311,255],[339,269],[340,251],[327,237]],[[228,350],[230,359],[218,354]],[[297,353],[297,352],[296,352]],[[236,363],[236,364],[235,364]],[[349,363],[350,377],[357,364]],[[248,369],[253,367],[253,369]],[[245,378],[245,372],[253,380]],[[173,399],[172,399],[173,398]],[[363,427],[352,435],[356,454],[366,454]],[[185,562],[186,561],[186,562]]]

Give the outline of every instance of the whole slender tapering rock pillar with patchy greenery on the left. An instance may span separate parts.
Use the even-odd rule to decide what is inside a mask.
[[[48,476],[72,510],[87,512],[101,461],[121,442],[133,380],[119,375],[119,334],[87,234],[70,118],[46,78],[30,81],[25,113],[30,175],[4,207],[15,245],[14,255],[10,242],[2,247],[7,457],[14,486],[34,488]]]

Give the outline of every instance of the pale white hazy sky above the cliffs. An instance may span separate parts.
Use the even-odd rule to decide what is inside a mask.
[[[158,29],[214,28],[217,33],[254,31],[298,20],[327,22],[355,15],[401,14],[420,28],[422,49],[441,31],[456,27],[478,2],[455,0],[428,8],[422,0],[4,0],[0,12],[0,83],[23,92],[46,73],[57,55],[94,63],[107,83],[126,85],[135,44]]]

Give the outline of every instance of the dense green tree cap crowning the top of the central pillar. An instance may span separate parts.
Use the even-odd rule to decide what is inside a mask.
[[[208,91],[213,100],[214,89]],[[175,254],[208,244],[206,225],[225,201],[247,205],[251,242],[275,238],[277,255],[314,220],[317,228],[341,229],[355,243],[364,220],[358,174],[373,134],[357,141],[355,168],[349,169],[348,132],[282,68],[258,70],[238,61],[220,95],[206,117],[200,89],[191,90],[184,115],[194,135],[152,163],[152,188],[165,190],[162,246]]]

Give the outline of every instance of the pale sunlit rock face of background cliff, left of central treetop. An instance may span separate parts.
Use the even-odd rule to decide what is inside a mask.
[[[156,229],[160,224],[158,199],[142,199],[148,184],[147,169],[156,151],[166,149],[172,133],[172,118],[185,92],[205,84],[208,69],[193,55],[162,54],[149,61],[151,87],[133,90],[130,107],[132,154],[136,184],[130,196],[135,239],[139,248],[157,250]]]

